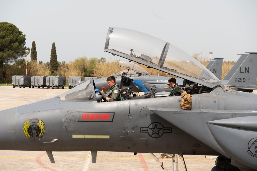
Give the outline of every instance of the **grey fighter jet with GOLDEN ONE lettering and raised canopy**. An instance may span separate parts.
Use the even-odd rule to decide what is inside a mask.
[[[192,109],[180,108],[181,96],[101,102],[90,79],[54,98],[0,111],[0,149],[47,151],[51,163],[52,151],[91,151],[93,163],[97,151],[160,153],[154,157],[164,169],[158,159],[169,155],[172,169],[185,154],[218,155],[212,170],[256,170],[257,94],[224,86],[199,61],[145,33],[109,28],[104,50],[183,78]]]

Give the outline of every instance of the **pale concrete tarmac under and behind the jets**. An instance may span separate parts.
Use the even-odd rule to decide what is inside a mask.
[[[0,86],[0,110],[33,103],[55,97],[68,91],[57,88],[19,88],[12,86]],[[257,93],[254,91],[253,93]],[[90,151],[75,152],[52,152],[55,164],[51,164],[45,151],[9,151],[0,150],[0,170],[76,170],[76,171],[158,171],[163,170],[155,159],[148,153],[127,152],[106,152],[98,151],[96,164],[92,164]],[[159,154],[154,153],[158,158]],[[206,171],[215,166],[215,160],[218,156],[198,156],[184,155],[185,164],[188,171]],[[167,170],[172,170],[171,158],[162,158],[163,166]],[[178,170],[183,171],[183,163],[179,159]]]

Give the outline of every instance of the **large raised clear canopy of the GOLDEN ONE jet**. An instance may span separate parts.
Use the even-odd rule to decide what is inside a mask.
[[[105,51],[213,88],[220,80],[192,56],[169,42],[138,31],[110,27]]]

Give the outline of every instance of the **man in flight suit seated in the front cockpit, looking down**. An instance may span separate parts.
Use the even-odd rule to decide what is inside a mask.
[[[120,98],[120,88],[119,85],[115,82],[115,77],[110,76],[107,78],[106,81],[110,86],[110,89],[108,90],[108,93],[106,95],[103,93],[102,89],[101,94],[103,100],[106,100],[107,102],[117,101]]]

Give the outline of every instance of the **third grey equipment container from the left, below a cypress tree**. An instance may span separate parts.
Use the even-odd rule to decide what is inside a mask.
[[[65,85],[66,85],[66,77],[62,77],[62,76],[47,76],[46,77],[46,87],[47,88],[57,87],[59,89],[60,87],[62,87],[64,89]]]

